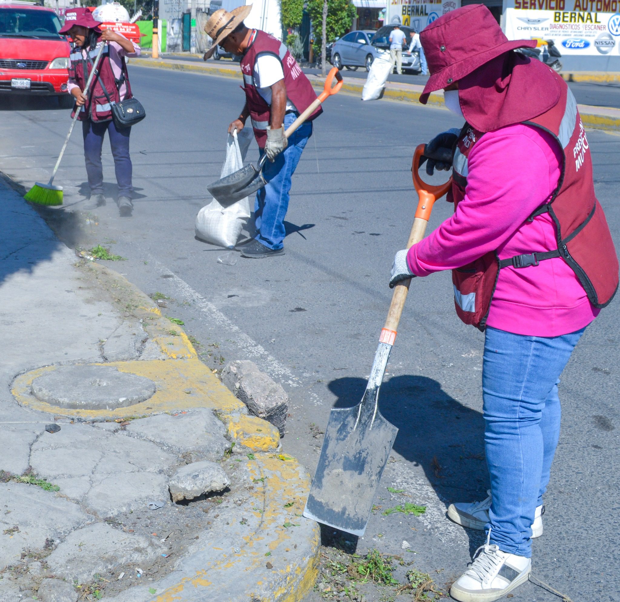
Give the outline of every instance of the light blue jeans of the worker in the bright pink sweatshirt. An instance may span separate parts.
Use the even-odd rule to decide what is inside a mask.
[[[504,552],[531,557],[531,524],[560,436],[557,384],[584,330],[560,337],[486,330],[482,397],[493,497],[487,530]]]

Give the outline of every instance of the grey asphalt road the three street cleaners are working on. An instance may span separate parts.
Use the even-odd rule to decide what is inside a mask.
[[[88,242],[126,257],[112,267],[142,290],[174,299],[167,315],[185,321],[211,365],[251,359],[283,383],[291,399],[283,446],[313,472],[329,410],[355,404],[371,368],[391,298],[389,269],[416,203],[413,149],[460,124],[438,108],[331,97],[294,175],[286,255],[223,265],[217,262],[223,250],[197,241],[193,226],[210,200],[206,184],[219,176],[226,126],[243,104],[239,82],[137,67],[131,82],[148,114],[131,134],[135,215],[119,218],[108,200],[96,225],[86,226]],[[54,107],[0,99],[0,169],[26,187],[47,180],[69,126],[69,112]],[[588,131],[588,140],[598,197],[620,247],[620,138]],[[112,199],[112,157],[104,150]],[[256,155],[253,143],[250,157]],[[78,133],[56,184],[65,190],[56,221],[75,242],[74,221],[83,216],[71,211],[87,194]],[[439,201],[429,228],[450,212]],[[360,554],[373,547],[403,554],[406,539],[417,552],[404,554],[406,560],[432,571],[441,585],[463,572],[482,541],[480,533],[448,521],[446,505],[482,499],[488,484],[483,335],[458,321],[451,290],[448,273],[414,281],[381,387],[381,411],[400,430],[376,504],[414,502],[427,512],[414,518],[378,511],[364,538],[353,542]],[[545,533],[534,542],[534,575],[575,602],[620,600],[619,308],[616,300],[601,312],[562,377],[562,435]],[[407,497],[387,487],[404,489]],[[308,600],[318,598],[313,593]],[[531,583],[512,598],[556,600]]]

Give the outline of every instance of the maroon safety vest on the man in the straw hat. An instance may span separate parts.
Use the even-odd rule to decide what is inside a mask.
[[[265,102],[265,99],[259,94],[254,84],[254,65],[260,55],[276,56],[282,64],[284,71],[284,84],[286,86],[286,97],[295,105],[299,113],[304,112],[312,102],[316,100],[316,92],[312,89],[308,77],[306,77],[297,61],[294,60],[288,48],[272,35],[261,31],[260,29],[252,32],[254,38],[250,41],[250,46],[241,59],[241,73],[243,74],[244,92],[246,92],[247,108],[250,111],[252,120],[252,128],[254,128],[254,136],[259,148],[265,148],[267,141],[267,126],[271,107]],[[321,115],[323,109],[321,107],[310,115],[308,121]]]

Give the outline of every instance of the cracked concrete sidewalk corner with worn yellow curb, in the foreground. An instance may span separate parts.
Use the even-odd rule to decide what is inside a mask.
[[[0,601],[302,598],[319,529],[278,428],[3,179],[0,220]]]

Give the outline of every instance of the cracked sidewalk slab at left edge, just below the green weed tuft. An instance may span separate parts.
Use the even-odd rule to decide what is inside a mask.
[[[22,551],[53,545],[89,520],[76,504],[53,492],[15,482],[0,483],[0,508],[0,570],[19,562]]]

